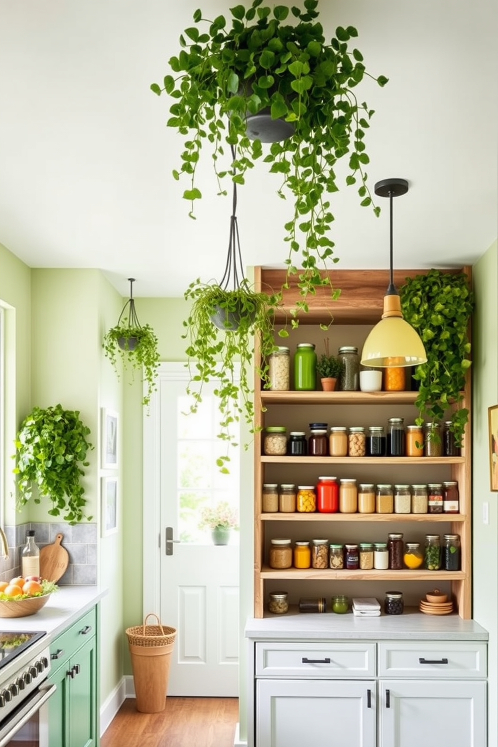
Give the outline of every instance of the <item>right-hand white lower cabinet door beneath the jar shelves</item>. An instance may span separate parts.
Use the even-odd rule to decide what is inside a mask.
[[[485,681],[379,683],[382,747],[486,747]]]

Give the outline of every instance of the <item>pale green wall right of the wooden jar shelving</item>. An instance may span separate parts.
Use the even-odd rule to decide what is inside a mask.
[[[498,494],[490,490],[488,407],[498,404],[498,243],[473,267],[473,618],[489,631],[488,744],[498,744]],[[482,521],[488,504],[489,523]]]

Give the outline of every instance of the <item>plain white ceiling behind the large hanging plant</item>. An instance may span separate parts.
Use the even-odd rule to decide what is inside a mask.
[[[286,0],[280,0],[280,2]],[[175,297],[220,280],[230,200],[208,155],[196,220],[172,179],[183,142],[169,101],[150,90],[169,72],[196,7],[228,0],[0,0],[0,243],[31,267],[103,270],[123,296]],[[293,4],[301,3],[293,0]],[[302,6],[301,6],[302,7]],[[358,28],[370,186],[408,179],[394,202],[397,268],[473,264],[498,234],[498,4],[490,0],[320,0],[326,37]],[[345,176],[345,175],[344,175]],[[239,190],[243,261],[279,267],[291,203],[258,164]],[[381,208],[387,208],[387,201]],[[341,269],[388,265],[387,209],[332,196]]]

